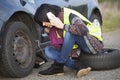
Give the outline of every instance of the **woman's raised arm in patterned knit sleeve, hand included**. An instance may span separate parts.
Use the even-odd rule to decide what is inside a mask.
[[[59,29],[65,29],[66,31],[69,31],[69,32],[71,32],[75,35],[81,35],[82,36],[82,35],[86,35],[87,32],[89,32],[86,25],[82,22],[82,20],[79,17],[74,16],[70,20],[70,22],[71,22],[70,25],[63,24],[62,21],[58,17],[55,17],[55,16],[53,16],[50,19],[50,23],[53,26],[55,26]]]

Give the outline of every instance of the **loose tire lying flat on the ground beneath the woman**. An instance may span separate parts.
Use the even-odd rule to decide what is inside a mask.
[[[103,49],[96,55],[82,54],[79,59],[85,66],[90,66],[93,70],[114,69],[120,67],[120,50]]]

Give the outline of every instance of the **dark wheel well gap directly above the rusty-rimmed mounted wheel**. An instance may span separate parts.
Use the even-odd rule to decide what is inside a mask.
[[[4,24],[4,26],[2,27],[2,32],[5,31],[7,29],[6,25],[7,23],[11,22],[11,21],[20,21],[23,22],[25,25],[27,25],[27,27],[29,28],[29,30],[32,32],[34,39],[38,38],[38,33],[37,32],[37,23],[34,21],[33,19],[33,15],[32,14],[28,14],[26,12],[23,11],[18,11],[15,12]]]

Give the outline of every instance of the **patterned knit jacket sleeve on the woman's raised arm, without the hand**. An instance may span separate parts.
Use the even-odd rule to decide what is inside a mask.
[[[89,32],[88,28],[86,27],[84,22],[79,17],[74,16],[70,20],[70,22],[71,22],[70,25],[67,25],[67,24],[64,25],[64,29],[66,31],[69,31],[72,34],[80,35],[80,36],[84,36]]]

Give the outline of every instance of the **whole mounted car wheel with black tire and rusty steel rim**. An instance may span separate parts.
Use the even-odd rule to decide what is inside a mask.
[[[7,77],[25,77],[35,63],[33,37],[22,22],[9,22],[6,29],[0,54],[0,73]]]

